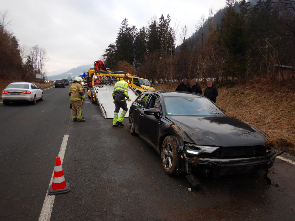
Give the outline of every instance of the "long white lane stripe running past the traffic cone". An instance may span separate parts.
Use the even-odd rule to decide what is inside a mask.
[[[58,153],[58,156],[60,157],[61,164],[63,164],[63,157],[65,156],[65,148],[66,148],[67,143],[68,143],[68,138],[69,138],[68,134],[65,134],[65,136],[63,136],[63,142],[61,143],[60,150],[59,150],[59,153]],[[53,173],[52,173],[52,176],[51,176],[51,179],[50,179],[50,182],[49,182],[49,186],[52,184],[53,175],[54,175],[54,169],[53,169]],[[51,212],[52,212],[52,208],[53,208],[53,203],[54,203],[54,198],[55,198],[55,195],[50,196],[46,192],[46,196],[45,196],[45,200],[44,200],[43,207],[42,207],[42,210],[41,210],[41,214],[40,214],[40,217],[39,217],[39,221],[48,221],[48,220],[50,220]]]

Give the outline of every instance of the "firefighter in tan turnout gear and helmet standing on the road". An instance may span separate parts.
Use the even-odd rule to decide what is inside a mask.
[[[84,87],[80,84],[81,77],[76,77],[69,89],[69,96],[72,103],[72,120],[78,122],[84,122],[82,117],[82,106],[85,100],[83,93]]]

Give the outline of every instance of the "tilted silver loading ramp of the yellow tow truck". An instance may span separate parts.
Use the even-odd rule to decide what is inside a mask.
[[[114,85],[93,85],[93,90],[97,99],[97,103],[99,105],[99,108],[104,118],[114,118],[115,105],[113,103],[114,100],[112,97]],[[138,94],[130,87],[128,87],[128,95],[131,101],[126,101],[128,111],[125,117],[129,116],[130,106],[132,102],[135,101],[135,99],[138,96]],[[121,113],[122,113],[122,108],[120,109],[118,116],[120,116]]]

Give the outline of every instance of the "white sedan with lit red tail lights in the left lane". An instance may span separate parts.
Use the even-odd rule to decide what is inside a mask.
[[[34,83],[14,82],[2,91],[2,100],[4,105],[17,101],[29,101],[36,104],[37,100],[43,100],[43,91]]]

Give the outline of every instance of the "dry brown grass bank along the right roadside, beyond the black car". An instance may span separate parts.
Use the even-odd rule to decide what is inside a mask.
[[[156,90],[175,90],[178,83],[155,84]],[[201,86],[204,93],[204,86]],[[233,116],[265,131],[274,147],[295,155],[295,92],[273,86],[237,85],[218,88],[216,104]]]

